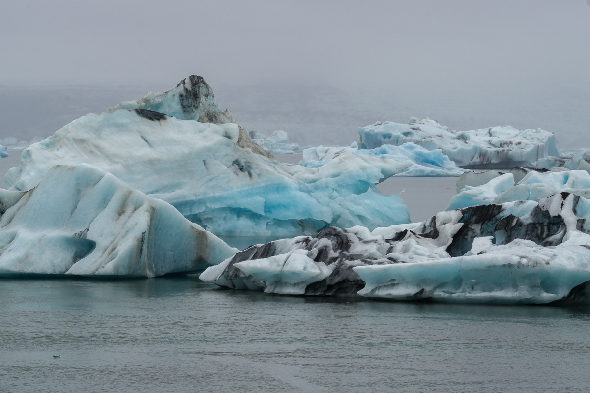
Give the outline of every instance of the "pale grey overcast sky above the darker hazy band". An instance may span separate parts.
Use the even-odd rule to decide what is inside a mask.
[[[584,0],[4,0],[0,82],[590,81]]]

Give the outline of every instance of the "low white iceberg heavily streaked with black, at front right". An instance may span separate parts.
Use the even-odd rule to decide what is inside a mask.
[[[590,201],[558,193],[441,212],[423,223],[252,246],[201,274],[288,295],[549,303],[588,300]]]

